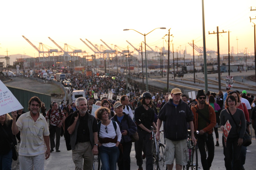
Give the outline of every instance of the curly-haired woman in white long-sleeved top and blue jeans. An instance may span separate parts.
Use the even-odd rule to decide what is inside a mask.
[[[95,111],[99,122],[99,156],[103,170],[116,169],[116,162],[119,157],[119,143],[122,134],[115,121],[109,120],[110,109],[100,107]]]

